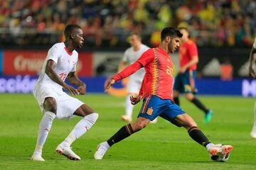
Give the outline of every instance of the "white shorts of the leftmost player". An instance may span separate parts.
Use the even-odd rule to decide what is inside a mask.
[[[48,84],[36,85],[33,95],[38,101],[42,113],[45,113],[43,109],[43,103],[47,97],[55,98],[57,102],[57,119],[69,119],[73,118],[75,111],[82,106],[82,101],[77,98],[73,98],[66,94],[62,89],[53,88]]]

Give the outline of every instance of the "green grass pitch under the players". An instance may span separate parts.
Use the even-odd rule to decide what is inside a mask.
[[[124,98],[89,94],[80,100],[100,117],[92,129],[73,143],[81,161],[58,155],[55,147],[64,140],[80,118],[54,120],[43,158],[30,161],[42,114],[31,94],[0,94],[0,169],[256,169],[256,140],[250,138],[255,98],[199,96],[213,109],[213,120],[203,124],[203,113],[184,98],[181,107],[214,143],[233,145],[228,162],[211,162],[206,149],[193,142],[183,128],[159,118],[126,140],[114,145],[102,160],[93,154],[102,141],[117,132],[124,122]],[[136,118],[142,103],[134,109]]]

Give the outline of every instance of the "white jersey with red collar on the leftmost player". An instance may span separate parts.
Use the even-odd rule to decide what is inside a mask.
[[[78,52],[76,52],[75,50],[73,52],[68,52],[68,49],[65,47],[64,42],[56,43],[55,45],[53,45],[53,47],[50,48],[50,50],[48,50],[48,55],[46,57],[46,61],[43,63],[43,68],[36,86],[41,84],[47,84],[50,86],[54,86],[59,90],[62,90],[62,86],[50,79],[50,77],[48,77],[45,72],[46,63],[48,60],[53,60],[56,63],[54,71],[58,74],[60,79],[65,81],[66,77],[70,72],[75,72],[78,62]]]

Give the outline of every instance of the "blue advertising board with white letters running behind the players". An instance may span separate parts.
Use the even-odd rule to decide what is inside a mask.
[[[38,77],[0,75],[0,93],[21,93],[33,92]],[[87,84],[88,93],[104,93],[104,82],[106,77],[80,77]],[[256,80],[233,79],[222,81],[220,79],[198,79],[196,80],[199,95],[234,95],[234,96],[256,96]],[[114,96],[125,96],[124,82],[114,84],[110,94]]]

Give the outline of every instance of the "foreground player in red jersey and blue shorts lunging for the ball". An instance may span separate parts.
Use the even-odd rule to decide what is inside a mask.
[[[159,47],[150,48],[139,57],[137,62],[130,65],[122,72],[114,75],[112,79],[105,82],[105,91],[116,81],[124,79],[144,67],[146,74],[142,81],[139,96],[131,96],[132,104],[136,104],[144,98],[142,109],[134,123],[124,125],[109,140],[100,143],[95,152],[95,159],[102,159],[112,145],[124,140],[134,132],[146,127],[151,120],[160,116],[169,122],[184,127],[193,140],[207,148],[212,155],[229,154],[233,147],[231,145],[214,145],[199,130],[195,121],[185,113],[172,98],[172,86],[174,81],[173,63],[169,52],[174,52],[179,46],[182,34],[175,28],[167,27],[161,31],[161,44]]]

